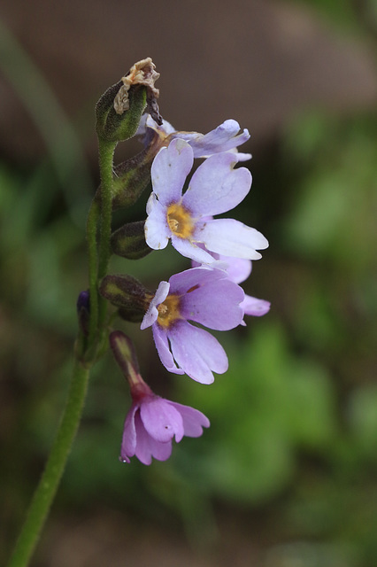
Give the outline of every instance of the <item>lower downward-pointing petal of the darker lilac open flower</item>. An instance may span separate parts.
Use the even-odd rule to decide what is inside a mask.
[[[227,371],[227,354],[206,330],[178,321],[169,329],[168,338],[178,366],[196,382],[212,384],[212,371]]]

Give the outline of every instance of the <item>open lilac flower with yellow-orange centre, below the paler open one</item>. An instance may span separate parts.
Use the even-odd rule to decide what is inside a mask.
[[[216,338],[188,321],[213,330],[230,330],[242,323],[242,288],[218,269],[191,268],[161,282],[142,320],[152,327],[158,355],[165,368],[212,384],[213,372],[227,371],[227,354]]]

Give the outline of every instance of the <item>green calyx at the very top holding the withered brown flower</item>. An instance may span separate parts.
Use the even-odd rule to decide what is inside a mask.
[[[123,142],[135,136],[147,105],[146,87],[135,85],[128,91],[128,110],[121,114],[117,113],[114,100],[122,85],[122,81],[112,85],[96,104],[96,134],[107,142]]]

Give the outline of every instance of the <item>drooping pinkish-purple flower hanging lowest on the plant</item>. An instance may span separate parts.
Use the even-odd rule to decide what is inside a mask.
[[[179,443],[184,435],[200,437],[210,422],[197,409],[160,398],[138,377],[138,383],[131,387],[133,403],[126,417],[119,458],[130,462],[135,455],[143,464],[150,464],[152,457],[166,461],[172,454],[173,438]]]

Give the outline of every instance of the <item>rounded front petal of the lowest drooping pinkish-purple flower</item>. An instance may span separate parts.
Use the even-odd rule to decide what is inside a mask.
[[[183,437],[183,423],[180,412],[163,398],[149,396],[142,400],[140,408],[142,423],[150,437],[166,443],[173,439],[177,442]]]

